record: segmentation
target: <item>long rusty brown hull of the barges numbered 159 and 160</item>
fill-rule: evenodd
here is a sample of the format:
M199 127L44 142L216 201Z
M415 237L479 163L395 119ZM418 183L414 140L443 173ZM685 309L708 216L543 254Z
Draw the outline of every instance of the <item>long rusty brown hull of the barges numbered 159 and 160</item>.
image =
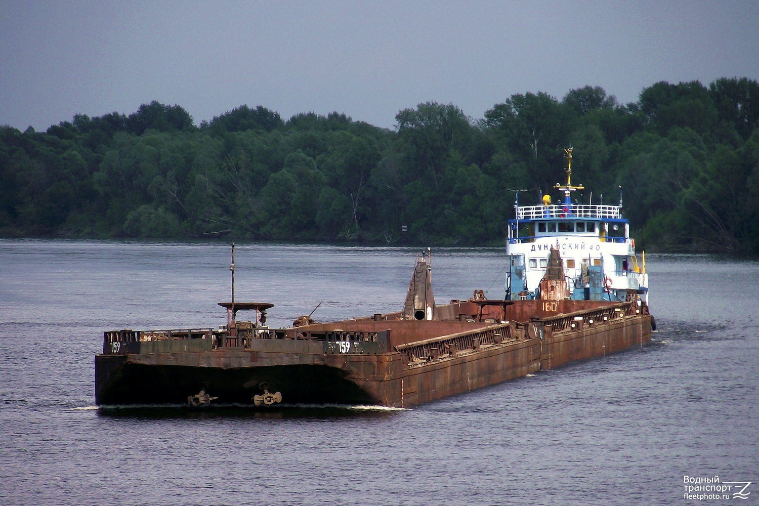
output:
M644 304L464 301L436 321L375 316L304 325L212 347L206 338L104 343L97 404L184 402L199 388L250 404L264 388L285 403L411 407L650 342ZM232 343L238 344L238 343Z

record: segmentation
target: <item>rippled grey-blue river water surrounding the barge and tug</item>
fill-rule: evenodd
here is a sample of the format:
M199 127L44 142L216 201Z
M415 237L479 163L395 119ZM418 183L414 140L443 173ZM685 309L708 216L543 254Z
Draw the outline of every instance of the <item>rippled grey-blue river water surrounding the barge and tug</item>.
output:
M400 310L414 253L240 244L235 296L275 326ZM757 503L759 262L648 255L650 346L413 410L94 407L102 332L225 323L229 254L0 240L0 504ZM502 298L502 248L432 265L441 303ZM691 501L685 475L754 483Z

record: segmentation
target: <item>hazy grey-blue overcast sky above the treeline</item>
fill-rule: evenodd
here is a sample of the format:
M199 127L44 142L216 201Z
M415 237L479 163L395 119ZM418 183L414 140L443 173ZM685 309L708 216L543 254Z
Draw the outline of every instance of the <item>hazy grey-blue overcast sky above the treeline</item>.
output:
M0 0L0 125L46 130L158 100L196 124L240 105L395 126L436 101L483 118L562 97L759 80L759 2Z

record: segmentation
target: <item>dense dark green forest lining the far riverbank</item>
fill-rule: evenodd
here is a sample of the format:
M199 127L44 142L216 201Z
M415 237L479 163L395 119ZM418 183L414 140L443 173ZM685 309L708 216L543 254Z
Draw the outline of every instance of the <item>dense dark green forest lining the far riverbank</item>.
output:
M578 200L621 185L639 245L759 253L756 80L660 82L626 105L591 86L517 94L484 116L427 102L389 130L243 105L196 127L151 102L0 127L0 236L502 244L512 190L559 198L574 146Z

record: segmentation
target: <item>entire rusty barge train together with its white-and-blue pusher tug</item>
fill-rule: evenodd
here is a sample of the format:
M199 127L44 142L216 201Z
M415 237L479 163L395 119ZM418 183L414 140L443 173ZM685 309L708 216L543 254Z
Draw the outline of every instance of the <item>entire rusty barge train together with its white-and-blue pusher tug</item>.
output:
M326 323L300 316L291 327L269 328L271 303L235 302L233 245L232 300L219 303L227 324L104 332L95 357L96 404L411 407L648 344L655 323L647 275L644 263L638 268L622 203L616 210L573 204L571 155L569 149L562 206L515 206L502 300L474 291L468 300L437 305L428 249L417 255L397 313ZM531 231L526 236L520 218ZM620 225L622 234L609 234ZM572 241L587 250L562 258L562 245ZM254 316L238 319L240 311Z

